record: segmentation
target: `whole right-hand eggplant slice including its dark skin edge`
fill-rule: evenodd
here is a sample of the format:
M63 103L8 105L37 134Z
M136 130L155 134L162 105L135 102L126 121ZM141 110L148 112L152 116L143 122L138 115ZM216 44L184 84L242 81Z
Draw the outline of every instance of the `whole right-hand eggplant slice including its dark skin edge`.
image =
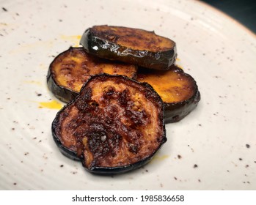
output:
M180 121L200 101L200 92L194 78L175 65L163 72L140 68L137 81L150 83L161 96L166 123Z

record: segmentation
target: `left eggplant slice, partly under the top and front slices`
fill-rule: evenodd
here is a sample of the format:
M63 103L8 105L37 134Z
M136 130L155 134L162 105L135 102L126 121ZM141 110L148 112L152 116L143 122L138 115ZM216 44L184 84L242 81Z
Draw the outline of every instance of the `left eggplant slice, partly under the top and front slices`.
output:
M51 62L47 82L53 94L66 103L73 100L81 86L91 75L108 73L136 78L137 67L122 62L99 59L84 51L83 48L70 47Z

